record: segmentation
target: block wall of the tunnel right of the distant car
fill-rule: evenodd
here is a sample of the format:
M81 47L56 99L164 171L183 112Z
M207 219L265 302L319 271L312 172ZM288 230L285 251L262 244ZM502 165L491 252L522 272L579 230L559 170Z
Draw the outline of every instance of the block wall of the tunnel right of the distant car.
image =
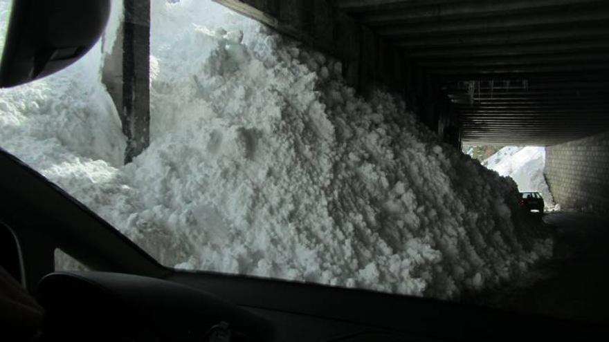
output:
M563 209L609 213L609 131L546 148L545 178Z

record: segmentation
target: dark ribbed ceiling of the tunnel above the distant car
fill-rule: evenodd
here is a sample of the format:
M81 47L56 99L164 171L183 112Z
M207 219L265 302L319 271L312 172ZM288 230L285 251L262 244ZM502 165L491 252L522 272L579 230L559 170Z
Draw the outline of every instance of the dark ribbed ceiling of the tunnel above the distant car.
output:
M609 128L609 1L334 0L437 79L466 144Z

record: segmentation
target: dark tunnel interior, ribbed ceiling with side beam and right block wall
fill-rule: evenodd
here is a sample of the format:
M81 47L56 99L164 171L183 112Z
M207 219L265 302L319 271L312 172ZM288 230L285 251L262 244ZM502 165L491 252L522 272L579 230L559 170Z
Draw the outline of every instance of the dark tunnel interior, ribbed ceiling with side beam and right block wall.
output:
M546 146L565 209L609 211L609 3L215 0L384 86L453 146Z

